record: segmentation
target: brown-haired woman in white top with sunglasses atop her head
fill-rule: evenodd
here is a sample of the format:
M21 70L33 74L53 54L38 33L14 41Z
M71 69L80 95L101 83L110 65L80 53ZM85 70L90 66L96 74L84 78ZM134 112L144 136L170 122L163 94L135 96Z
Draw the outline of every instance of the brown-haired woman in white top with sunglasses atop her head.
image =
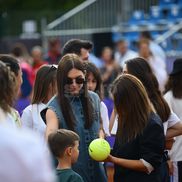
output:
M57 92L56 71L57 65L40 67L35 78L31 105L23 110L21 116L23 127L30 128L40 134L43 142L45 141L46 125L40 112Z

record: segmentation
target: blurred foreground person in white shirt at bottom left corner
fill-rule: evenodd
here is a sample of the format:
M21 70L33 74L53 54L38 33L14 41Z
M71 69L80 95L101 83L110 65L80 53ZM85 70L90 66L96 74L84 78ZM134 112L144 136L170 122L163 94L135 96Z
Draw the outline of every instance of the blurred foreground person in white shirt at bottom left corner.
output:
M1 61L0 90L0 181L54 182L50 157L39 137L18 129L11 117L17 94L16 78Z

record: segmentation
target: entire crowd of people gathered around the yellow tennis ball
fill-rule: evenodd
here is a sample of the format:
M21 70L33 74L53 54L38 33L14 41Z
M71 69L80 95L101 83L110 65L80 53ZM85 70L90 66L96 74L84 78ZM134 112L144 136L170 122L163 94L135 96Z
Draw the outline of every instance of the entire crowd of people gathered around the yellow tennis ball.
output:
M97 62L80 39L0 55L0 179L107 182L109 162L115 182L181 181L182 58L168 75L157 46L143 32L138 52L122 39ZM108 158L93 160L91 141L112 136Z

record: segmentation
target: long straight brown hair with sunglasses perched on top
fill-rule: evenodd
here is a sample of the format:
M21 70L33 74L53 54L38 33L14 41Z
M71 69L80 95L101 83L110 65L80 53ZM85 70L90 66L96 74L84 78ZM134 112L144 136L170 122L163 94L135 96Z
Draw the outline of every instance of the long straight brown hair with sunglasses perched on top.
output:
M47 102L48 92L55 93L57 65L43 65L38 70L35 78L32 104ZM49 89L53 89L52 91Z

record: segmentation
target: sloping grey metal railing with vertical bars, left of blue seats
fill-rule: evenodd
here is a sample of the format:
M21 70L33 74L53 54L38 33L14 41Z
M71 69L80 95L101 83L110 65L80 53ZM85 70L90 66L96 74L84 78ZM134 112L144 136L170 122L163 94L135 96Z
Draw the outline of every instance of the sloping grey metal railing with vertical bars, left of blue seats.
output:
M45 28L44 36L77 36L111 32L113 26L128 21L134 10L145 13L158 0L86 0Z

